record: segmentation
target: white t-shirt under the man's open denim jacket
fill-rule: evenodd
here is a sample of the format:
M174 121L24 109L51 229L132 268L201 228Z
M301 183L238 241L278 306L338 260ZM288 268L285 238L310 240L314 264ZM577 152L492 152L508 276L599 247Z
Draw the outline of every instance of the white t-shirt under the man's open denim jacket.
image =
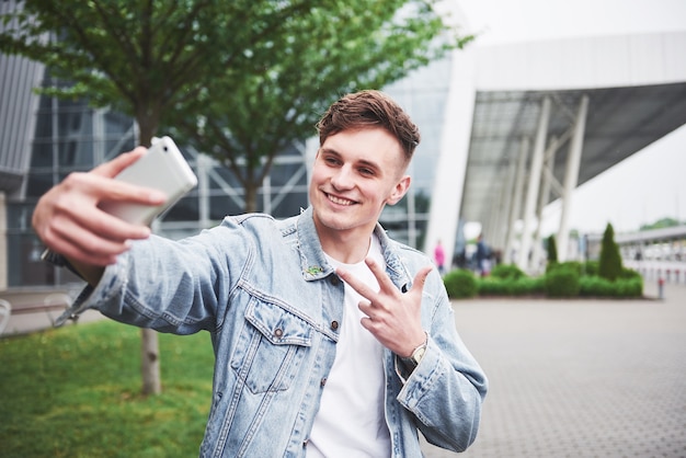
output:
M385 265L381 247L371 237L368 256ZM344 267L374 290L376 277L363 262L343 264L327 255L331 265ZM386 424L384 347L362 327L357 305L366 300L345 284L345 311L336 354L324 386L321 405L307 446L307 458L390 457Z

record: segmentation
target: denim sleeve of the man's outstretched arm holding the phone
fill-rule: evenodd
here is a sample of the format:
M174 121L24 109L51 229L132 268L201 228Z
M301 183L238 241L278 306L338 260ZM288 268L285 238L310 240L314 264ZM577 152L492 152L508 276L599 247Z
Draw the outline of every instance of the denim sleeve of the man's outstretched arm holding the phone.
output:
M152 236L136 241L108 266L80 309L94 308L116 321L160 332L216 332L229 302L229 256L217 249L211 230L172 241ZM243 256L232 252L232 262Z

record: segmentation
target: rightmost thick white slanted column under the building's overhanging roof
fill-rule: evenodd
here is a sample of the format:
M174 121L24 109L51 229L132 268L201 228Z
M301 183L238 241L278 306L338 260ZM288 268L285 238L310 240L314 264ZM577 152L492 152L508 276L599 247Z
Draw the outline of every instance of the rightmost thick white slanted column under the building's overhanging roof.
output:
M586 114L588 112L588 95L581 98L576 119L574 121L574 133L570 140L570 150L567 158L567 169L564 171L564 184L562 186L562 209L560 211L560 228L558 231L558 260L567 261L569 251L569 214L572 204L572 193L579 183L579 168L581 165L581 153L583 151L584 131L586 128Z

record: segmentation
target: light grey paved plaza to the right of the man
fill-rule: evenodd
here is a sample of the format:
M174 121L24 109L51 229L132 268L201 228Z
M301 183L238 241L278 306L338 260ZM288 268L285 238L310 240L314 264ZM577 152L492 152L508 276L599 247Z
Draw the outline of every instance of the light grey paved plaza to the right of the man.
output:
M686 457L686 285L457 301L455 317L491 388L472 447L425 444L426 458Z

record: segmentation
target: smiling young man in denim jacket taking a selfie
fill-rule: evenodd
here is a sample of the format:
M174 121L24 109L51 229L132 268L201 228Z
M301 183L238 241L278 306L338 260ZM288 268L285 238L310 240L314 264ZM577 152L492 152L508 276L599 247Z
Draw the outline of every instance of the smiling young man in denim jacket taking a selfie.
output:
M441 276L378 225L410 186L419 130L363 91L318 124L311 206L228 217L170 241L98 208L163 196L112 180L137 149L71 174L33 224L89 286L75 305L162 332L206 330L216 355L203 457L419 457L475 439L487 379ZM132 241L135 240L135 241Z

